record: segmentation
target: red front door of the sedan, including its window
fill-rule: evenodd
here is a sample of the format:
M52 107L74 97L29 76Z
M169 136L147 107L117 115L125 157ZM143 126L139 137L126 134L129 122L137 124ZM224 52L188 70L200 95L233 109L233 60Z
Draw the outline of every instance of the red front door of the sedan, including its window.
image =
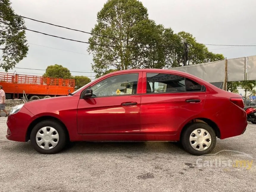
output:
M119 74L92 85L93 97L79 99L78 133L139 134L141 77L142 72Z

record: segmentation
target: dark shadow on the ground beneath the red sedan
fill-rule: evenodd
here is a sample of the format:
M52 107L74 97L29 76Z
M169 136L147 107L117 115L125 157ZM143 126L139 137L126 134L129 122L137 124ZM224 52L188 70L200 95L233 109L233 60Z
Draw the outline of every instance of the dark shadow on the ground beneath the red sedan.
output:
M1 152L20 153L20 154L39 154L34 150L29 142L11 142L1 147ZM232 149L228 143L216 143L215 149L211 153ZM191 155L184 151L180 142L69 142L59 154L173 154L173 155ZM43 155L43 154L41 154Z

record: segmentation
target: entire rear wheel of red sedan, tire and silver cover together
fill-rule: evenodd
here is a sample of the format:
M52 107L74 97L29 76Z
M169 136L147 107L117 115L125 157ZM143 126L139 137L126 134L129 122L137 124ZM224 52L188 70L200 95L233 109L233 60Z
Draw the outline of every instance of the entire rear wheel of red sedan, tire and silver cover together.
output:
M195 122L182 132L181 143L185 151L190 154L208 154L215 147L216 134L209 125Z

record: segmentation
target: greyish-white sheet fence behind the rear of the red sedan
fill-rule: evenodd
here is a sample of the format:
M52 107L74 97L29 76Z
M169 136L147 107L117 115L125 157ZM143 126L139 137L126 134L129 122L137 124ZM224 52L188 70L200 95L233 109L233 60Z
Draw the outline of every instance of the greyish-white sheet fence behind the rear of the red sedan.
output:
M187 65L172 69L192 74L210 83L256 80L256 55L210 63ZM225 79L226 73L227 79Z

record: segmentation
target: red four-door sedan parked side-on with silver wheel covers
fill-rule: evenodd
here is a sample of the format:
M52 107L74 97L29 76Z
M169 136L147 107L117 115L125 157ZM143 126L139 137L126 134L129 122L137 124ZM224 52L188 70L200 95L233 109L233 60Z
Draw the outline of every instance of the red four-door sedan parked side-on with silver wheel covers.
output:
M43 154L68 141L181 141L194 155L246 130L242 97L180 71L117 71L69 96L15 106L7 139Z

